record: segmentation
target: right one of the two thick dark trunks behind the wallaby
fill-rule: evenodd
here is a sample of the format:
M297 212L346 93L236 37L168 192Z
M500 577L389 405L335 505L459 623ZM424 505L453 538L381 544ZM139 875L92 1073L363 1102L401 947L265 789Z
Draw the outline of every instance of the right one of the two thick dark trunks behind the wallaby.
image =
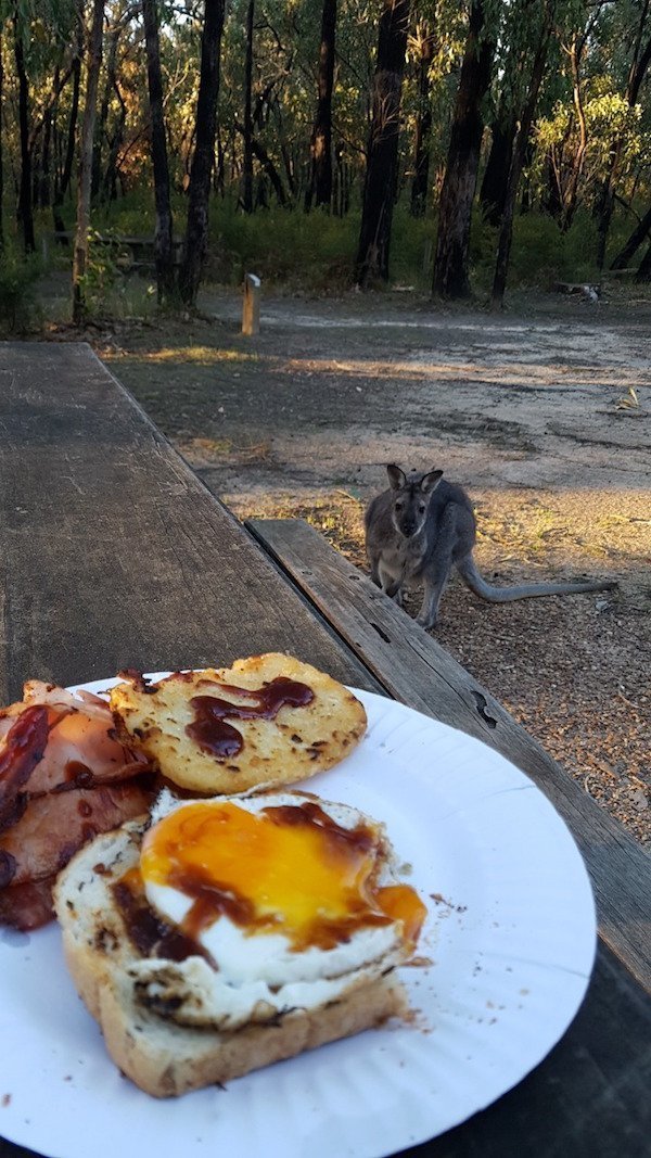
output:
M484 129L482 101L490 85L493 51L493 41L484 34L483 0L473 0L439 201L433 292L445 298L470 293L470 220Z

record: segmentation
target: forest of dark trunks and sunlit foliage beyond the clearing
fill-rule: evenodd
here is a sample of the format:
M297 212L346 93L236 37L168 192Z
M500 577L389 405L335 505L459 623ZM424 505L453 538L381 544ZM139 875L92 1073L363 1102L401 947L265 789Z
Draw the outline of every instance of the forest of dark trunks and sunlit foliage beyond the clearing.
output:
M184 308L251 266L495 306L651 278L650 0L0 0L0 37L6 325L44 257L105 310L133 235Z

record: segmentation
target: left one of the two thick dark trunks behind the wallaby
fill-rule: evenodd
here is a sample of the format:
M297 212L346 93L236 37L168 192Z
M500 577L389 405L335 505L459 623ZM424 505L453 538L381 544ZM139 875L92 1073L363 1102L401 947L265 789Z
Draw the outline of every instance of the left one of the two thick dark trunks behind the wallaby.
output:
M373 78L373 112L356 265L356 278L361 288L373 278L385 281L389 278L408 27L409 0L385 0Z

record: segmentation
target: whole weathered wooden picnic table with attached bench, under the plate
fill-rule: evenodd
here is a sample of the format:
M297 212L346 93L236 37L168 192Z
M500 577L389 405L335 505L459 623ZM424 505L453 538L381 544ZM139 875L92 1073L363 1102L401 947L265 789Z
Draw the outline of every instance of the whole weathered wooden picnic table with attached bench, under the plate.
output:
M85 344L0 344L0 703L20 697L28 677L72 684L126 665L161 670L288 651L480 735L519 764L586 859L600 921L594 973L572 1025L533 1072L404 1153L649 1153L649 858L314 533L242 527ZM29 1153L0 1137L1 1158Z

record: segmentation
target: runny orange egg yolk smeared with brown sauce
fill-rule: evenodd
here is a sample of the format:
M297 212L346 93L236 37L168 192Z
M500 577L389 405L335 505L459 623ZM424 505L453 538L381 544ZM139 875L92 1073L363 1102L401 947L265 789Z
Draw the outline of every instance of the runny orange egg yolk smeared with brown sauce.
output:
M197 802L146 834L140 872L192 901L182 929L195 939L220 916L249 933L283 933L295 951L401 922L412 948L425 906L407 885L378 885L381 858L376 828L344 828L312 800L259 813Z

